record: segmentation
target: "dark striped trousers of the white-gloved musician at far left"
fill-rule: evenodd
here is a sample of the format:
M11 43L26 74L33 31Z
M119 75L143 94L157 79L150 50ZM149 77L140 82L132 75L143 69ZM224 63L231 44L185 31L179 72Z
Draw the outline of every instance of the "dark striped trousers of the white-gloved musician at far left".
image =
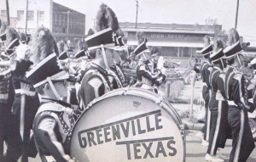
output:
M31 154L30 150L30 134L32 130L32 122L39 107L38 95L33 97L26 96L25 104L25 121L24 121L24 134L22 144L22 161L27 161L27 157ZM13 115L15 116L15 130L20 134L20 94L15 94L15 101L13 103Z

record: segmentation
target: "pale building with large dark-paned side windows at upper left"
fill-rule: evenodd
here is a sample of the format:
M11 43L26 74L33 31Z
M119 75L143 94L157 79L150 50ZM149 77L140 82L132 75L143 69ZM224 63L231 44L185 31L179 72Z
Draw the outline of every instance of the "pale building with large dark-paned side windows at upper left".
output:
M6 1L0 0L1 20L6 21ZM26 0L9 0L10 25L19 32L26 29ZM27 34L30 35L38 26L44 25L53 32L56 41L85 37L85 14L67 8L53 0L29 0L27 9Z

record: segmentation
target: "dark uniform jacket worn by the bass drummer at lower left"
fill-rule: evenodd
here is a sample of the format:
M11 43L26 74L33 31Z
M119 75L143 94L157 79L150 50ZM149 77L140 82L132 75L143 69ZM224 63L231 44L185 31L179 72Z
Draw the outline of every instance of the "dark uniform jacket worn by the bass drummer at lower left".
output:
M62 109L63 106L59 103L44 103L38 109L33 121L38 152L44 156L53 156L55 161L66 162L70 159L68 154L73 120L67 119L62 112L43 110L47 107Z

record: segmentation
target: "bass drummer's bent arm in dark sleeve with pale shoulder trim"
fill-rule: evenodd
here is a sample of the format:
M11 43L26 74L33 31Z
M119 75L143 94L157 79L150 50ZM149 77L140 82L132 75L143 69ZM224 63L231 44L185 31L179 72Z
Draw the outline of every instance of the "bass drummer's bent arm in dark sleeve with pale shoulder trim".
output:
M44 143L44 147L49 150L49 153L60 162L71 162L73 159L68 154L64 153L61 142L58 141L56 134L59 133L57 121L52 117L47 117L41 120L38 125L38 138Z

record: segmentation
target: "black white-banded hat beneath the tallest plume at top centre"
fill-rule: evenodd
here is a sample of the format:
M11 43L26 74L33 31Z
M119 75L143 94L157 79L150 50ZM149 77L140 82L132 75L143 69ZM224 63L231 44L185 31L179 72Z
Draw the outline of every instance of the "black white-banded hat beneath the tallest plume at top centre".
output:
M104 45L104 47L114 46L114 35L111 28L96 32L95 34L85 38L88 49L96 49Z

